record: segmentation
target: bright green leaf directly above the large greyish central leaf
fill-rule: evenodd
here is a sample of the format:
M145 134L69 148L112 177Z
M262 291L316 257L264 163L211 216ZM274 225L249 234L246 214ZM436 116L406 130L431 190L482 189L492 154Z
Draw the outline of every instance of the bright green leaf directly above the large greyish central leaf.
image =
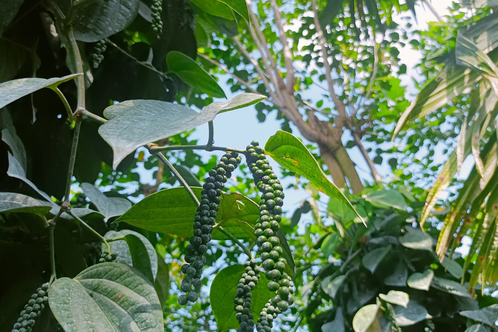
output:
M166 56L168 72L176 74L183 83L216 98L227 98L216 81L189 56L177 52L168 52Z

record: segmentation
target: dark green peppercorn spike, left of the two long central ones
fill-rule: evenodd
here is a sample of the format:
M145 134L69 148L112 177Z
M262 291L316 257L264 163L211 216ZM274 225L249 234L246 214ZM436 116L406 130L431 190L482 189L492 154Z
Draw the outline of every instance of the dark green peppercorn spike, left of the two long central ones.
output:
M180 269L182 273L186 274L180 286L180 290L186 295L178 297L178 304L182 306L188 302L197 301L199 297L199 290L202 286L202 268L206 263L204 254L208 251L211 232L216 223L216 214L221 202L220 195L227 179L232 176L232 172L241 163L241 160L238 153L224 154L220 162L209 171L209 176L203 185L201 204L194 217L194 236L189 239L185 255L186 263Z

